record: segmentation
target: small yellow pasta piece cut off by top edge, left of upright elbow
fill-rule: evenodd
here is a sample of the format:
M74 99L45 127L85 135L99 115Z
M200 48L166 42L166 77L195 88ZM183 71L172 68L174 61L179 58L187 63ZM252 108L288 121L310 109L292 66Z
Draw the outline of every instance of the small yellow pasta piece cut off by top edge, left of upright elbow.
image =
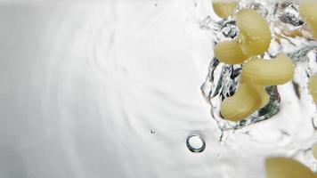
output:
M237 0L214 0L212 4L215 14L223 19L227 19L238 5Z

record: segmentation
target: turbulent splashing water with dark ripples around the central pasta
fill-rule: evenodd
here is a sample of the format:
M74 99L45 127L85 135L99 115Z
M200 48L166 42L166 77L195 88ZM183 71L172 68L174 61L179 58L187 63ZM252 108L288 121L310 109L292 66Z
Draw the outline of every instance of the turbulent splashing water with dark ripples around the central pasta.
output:
M240 1L239 6L239 9L255 9L269 21L272 43L268 52L261 57L273 58L279 53L288 53L294 61L297 71L291 82L291 90L296 93L298 101L313 105L313 102L307 100L307 97L302 97L301 93L308 94L306 81L317 71L315 67L317 43L313 41L305 22L300 18L298 4L295 2ZM239 29L235 23L235 20L231 18L215 20L208 16L200 23L200 28L209 30L215 36L215 44L217 44L238 35ZM214 57L210 62L206 81L201 86L203 96L211 106L212 117L223 132L237 130L270 119L283 108L279 87L267 86L265 89L270 95L270 101L264 108L237 123L224 120L219 111L220 103L236 92L240 73L241 65L224 64Z

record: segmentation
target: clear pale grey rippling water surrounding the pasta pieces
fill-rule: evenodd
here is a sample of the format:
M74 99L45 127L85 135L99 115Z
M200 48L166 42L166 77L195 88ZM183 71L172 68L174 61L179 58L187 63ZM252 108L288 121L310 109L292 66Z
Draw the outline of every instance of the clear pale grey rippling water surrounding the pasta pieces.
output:
M242 3L272 15L272 4ZM315 50L304 47L313 41L272 45L266 57L289 53L297 75L267 88L272 108L236 125L210 105L234 92L240 66L213 60L215 42L237 31L234 21L216 19L209 1L7 1L0 8L0 177L264 178L272 155L317 170L310 151L317 116L306 89ZM288 12L295 14L283 17L292 21L285 25L300 25ZM210 62L216 82L202 95ZM199 154L186 145L193 133L203 140L191 148L207 145Z

